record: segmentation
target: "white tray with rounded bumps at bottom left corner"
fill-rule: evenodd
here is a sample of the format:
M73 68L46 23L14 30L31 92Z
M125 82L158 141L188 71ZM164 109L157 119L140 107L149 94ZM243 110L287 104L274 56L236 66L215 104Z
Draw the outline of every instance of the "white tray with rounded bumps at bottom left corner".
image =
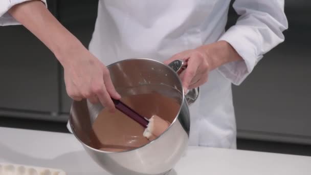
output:
M60 169L0 163L0 175L66 175Z

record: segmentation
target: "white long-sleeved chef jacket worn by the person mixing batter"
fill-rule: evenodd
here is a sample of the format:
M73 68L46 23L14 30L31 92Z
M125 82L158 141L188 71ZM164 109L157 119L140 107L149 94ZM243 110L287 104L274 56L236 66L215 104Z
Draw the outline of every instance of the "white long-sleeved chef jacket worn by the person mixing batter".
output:
M1 0L0 24L18 24L7 10L25 0ZM43 1L44 2L44 1ZM240 15L225 31L230 0L99 0L89 50L104 64L127 58L164 61L218 40L229 42L243 61L213 70L190 106L190 145L236 148L231 84L239 85L263 54L284 40L284 0L236 0Z

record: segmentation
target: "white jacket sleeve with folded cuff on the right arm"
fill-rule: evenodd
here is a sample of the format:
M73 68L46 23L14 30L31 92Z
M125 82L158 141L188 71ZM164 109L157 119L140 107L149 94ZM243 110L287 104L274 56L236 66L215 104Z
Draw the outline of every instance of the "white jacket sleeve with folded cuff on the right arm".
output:
M255 65L279 43L288 28L284 0L236 0L233 8L240 17L219 40L225 40L243 58L222 65L217 70L233 84L239 85Z

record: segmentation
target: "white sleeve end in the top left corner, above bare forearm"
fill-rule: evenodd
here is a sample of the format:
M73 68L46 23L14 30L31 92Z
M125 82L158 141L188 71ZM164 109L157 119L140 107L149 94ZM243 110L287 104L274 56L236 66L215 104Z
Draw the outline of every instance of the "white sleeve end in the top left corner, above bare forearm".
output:
M9 13L8 10L16 4L31 0L0 0L0 26L20 25ZM46 0L41 0L46 7Z

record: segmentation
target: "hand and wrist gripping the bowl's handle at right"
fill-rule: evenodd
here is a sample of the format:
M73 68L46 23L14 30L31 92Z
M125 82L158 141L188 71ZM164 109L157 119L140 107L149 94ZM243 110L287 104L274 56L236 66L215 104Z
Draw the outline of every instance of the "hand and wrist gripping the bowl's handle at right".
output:
M187 69L180 75L184 91L187 92L189 89L197 88L207 82L209 71L227 62L242 58L228 42L217 41L210 45L177 53L164 63L169 64L176 59L185 61L187 65Z

